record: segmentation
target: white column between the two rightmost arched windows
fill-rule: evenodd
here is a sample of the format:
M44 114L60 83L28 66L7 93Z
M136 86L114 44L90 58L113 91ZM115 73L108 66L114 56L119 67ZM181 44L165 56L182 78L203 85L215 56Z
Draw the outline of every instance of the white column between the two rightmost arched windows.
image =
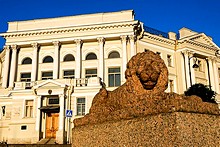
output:
M103 37L97 38L99 43L99 74L98 76L104 81L104 42L105 39Z

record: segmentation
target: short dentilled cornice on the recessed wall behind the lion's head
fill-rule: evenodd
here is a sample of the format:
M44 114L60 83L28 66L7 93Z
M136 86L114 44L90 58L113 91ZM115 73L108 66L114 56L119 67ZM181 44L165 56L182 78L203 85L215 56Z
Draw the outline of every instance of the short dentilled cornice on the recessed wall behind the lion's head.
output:
M148 39L154 40L154 41L158 41L161 43L165 43L168 45L175 45L175 41L174 40L170 40L161 36L157 36L157 35L153 35L147 32L144 32L144 37L147 37Z

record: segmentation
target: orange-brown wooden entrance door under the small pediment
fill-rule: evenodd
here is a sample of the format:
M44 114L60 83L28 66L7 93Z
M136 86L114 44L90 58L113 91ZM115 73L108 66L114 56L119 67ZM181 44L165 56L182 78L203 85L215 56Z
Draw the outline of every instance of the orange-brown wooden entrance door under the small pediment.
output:
M59 129L59 113L47 113L46 138L56 138Z

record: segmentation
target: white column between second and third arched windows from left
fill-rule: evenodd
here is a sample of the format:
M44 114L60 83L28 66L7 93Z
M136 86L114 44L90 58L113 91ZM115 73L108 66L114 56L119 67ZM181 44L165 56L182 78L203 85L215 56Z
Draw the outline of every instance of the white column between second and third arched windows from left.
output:
M53 79L59 79L59 48L60 42L53 42L54 45L54 60L53 60Z

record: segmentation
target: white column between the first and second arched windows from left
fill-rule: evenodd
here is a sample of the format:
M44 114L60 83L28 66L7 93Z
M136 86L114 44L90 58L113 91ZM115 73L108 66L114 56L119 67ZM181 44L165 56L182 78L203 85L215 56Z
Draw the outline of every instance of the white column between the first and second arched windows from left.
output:
M31 44L33 47L33 57L32 57L32 71L31 71L31 81L37 80L37 67L38 67L38 43Z

